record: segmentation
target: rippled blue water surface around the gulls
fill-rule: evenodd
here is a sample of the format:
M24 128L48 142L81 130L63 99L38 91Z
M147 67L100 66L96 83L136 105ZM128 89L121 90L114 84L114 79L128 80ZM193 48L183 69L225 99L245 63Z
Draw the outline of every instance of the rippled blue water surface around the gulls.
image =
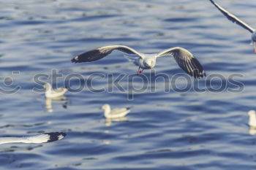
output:
M255 27L256 1L217 2ZM1 169L255 169L255 131L246 125L246 112L255 109L256 100L256 55L249 43L249 32L209 1L0 1L1 136L67 132L49 144L1 144ZM227 82L217 93L207 77L191 79L192 87L198 83L208 88L205 92L165 93L158 80L132 95L127 82L138 68L121 53L94 63L70 62L86 50L116 44L143 53L187 48L208 77L221 74L227 81L241 75L236 80L243 89L231 93L227 89L238 86ZM55 71L62 75L55 87L67 85L72 74L93 82L94 91L86 82L80 92L67 93L67 101L48 101L46 108L43 94L32 90L42 89L33 78L44 75L42 81L50 82ZM170 58L159 59L155 72L183 73ZM110 87L99 75L116 79L120 74L125 74L124 91L97 91ZM69 81L73 91L78 78ZM215 78L211 87L222 87ZM134 88L142 81L135 77ZM179 88L186 83L177 82ZM17 93L2 92L18 85ZM126 121L108 122L99 109L105 103L132 112Z

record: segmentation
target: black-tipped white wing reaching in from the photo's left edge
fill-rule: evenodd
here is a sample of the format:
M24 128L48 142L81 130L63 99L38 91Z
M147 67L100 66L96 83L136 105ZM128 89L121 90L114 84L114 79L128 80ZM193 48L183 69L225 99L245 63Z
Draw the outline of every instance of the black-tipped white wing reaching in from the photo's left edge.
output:
M54 142L63 139L67 134L63 132L50 132L39 134L36 136L23 136L23 137L0 137L0 144L6 143L26 143L26 144L39 144L46 142Z

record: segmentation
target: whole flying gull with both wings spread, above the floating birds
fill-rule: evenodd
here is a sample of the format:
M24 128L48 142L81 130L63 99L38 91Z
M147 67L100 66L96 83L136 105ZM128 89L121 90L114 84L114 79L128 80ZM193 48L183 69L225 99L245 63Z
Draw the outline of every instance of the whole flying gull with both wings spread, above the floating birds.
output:
M113 50L119 50L128 55L138 55L137 58L129 58L129 61L132 61L135 66L139 66L138 74L142 73L144 69L153 69L156 65L157 58L170 55L176 60L178 66L192 77L200 78L206 76L203 66L197 61L197 58L182 47L172 47L157 54L143 54L124 45L110 45L82 53L72 58L71 61L72 63L97 61L109 55Z

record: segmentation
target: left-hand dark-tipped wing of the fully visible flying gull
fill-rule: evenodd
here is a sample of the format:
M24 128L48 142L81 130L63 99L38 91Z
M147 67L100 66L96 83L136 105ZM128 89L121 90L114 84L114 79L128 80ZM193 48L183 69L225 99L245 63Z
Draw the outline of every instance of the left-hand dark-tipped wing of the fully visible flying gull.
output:
M143 58L143 54L138 53L138 51L132 49L131 47L127 47L124 45L110 45L105 47L99 47L94 50L90 50L86 53L82 53L75 58L72 58L72 63L83 63L83 62L91 62L97 61L100 58L104 58L105 56L109 55L113 50L119 50L123 53L127 54L136 54L139 55L140 58Z

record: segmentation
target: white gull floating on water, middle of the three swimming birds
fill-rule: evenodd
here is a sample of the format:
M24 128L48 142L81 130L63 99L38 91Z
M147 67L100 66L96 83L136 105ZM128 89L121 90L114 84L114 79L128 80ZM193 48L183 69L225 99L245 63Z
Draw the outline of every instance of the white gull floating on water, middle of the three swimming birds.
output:
M116 109L111 110L109 104L104 104L101 109L104 110L104 116L107 119L116 119L116 118L124 117L131 111L128 107L127 108L116 108Z

